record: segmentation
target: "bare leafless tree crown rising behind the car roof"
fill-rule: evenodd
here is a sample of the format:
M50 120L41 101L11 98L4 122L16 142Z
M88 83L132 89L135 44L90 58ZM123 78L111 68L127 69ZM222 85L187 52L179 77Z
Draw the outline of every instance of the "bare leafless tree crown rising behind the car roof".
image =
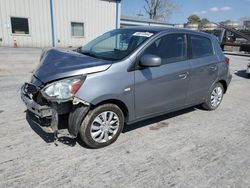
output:
M144 0L144 9L150 19L167 20L176 8L171 0Z

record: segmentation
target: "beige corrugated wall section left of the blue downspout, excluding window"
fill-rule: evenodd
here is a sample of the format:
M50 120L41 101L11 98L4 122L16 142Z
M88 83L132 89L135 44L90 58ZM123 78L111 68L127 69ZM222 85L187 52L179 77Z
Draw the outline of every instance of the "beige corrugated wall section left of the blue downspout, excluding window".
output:
M50 46L49 0L0 0L0 46ZM28 18L29 34L12 34L11 17Z

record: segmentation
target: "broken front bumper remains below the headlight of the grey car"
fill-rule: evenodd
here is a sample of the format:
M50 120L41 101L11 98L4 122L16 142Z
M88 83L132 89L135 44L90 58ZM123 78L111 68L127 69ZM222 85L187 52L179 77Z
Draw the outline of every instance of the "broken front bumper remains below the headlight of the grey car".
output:
M64 122L64 124L67 124L70 137L76 137L82 120L89 111L89 103L78 98L72 98L63 103L48 101L47 105L41 105L34 100L34 93L25 91L24 88L26 85L27 83L21 88L21 99L26 105L27 110L35 115L36 120L33 121L39 124L44 132L57 133L60 127L60 116L68 115L68 122Z

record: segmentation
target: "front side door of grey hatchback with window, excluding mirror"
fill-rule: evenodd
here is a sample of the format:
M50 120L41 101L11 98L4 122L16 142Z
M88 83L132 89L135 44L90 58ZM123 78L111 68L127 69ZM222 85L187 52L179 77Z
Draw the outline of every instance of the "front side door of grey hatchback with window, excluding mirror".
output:
M183 106L189 82L185 34L168 34L157 39L138 59L146 54L161 57L162 65L135 71L137 118Z

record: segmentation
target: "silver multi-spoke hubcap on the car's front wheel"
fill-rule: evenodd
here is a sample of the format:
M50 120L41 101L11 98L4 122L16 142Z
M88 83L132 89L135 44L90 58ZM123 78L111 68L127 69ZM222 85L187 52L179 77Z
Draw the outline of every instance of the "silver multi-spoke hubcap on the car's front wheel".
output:
M96 116L91 124L90 133L94 141L99 143L112 139L119 128L119 118L116 113L105 111Z

